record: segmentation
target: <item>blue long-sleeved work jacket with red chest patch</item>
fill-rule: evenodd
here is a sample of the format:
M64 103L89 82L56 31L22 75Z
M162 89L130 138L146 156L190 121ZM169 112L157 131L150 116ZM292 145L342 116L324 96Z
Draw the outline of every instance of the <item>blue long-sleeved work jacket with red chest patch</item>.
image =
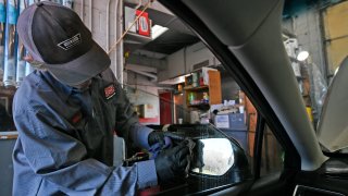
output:
M157 185L153 160L112 166L115 131L149 148L151 130L138 123L110 69L85 91L35 71L14 96L13 117L13 195L135 195Z

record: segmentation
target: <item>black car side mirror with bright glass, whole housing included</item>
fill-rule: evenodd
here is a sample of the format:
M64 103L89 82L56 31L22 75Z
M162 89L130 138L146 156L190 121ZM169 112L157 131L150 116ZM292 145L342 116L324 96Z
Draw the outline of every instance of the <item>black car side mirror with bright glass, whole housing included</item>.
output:
M169 133L196 143L188 181L200 186L225 185L251 177L250 164L239 143L212 124L175 124ZM199 183L198 183L199 182ZM207 183L201 183L207 182Z

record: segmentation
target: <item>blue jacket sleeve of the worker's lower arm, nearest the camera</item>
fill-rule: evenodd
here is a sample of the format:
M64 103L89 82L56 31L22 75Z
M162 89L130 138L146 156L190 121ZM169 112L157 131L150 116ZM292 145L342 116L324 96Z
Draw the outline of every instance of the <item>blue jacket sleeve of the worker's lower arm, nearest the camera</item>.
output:
M14 118L32 170L67 195L134 195L137 188L157 184L153 161L108 167L88 158L84 144L49 113L24 110Z

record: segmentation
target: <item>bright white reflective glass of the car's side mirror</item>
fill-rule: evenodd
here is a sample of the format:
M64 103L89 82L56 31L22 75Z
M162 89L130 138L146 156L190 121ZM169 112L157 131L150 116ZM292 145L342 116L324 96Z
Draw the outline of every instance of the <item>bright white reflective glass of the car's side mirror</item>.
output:
M208 175L223 175L234 164L234 152L226 138L199 139L201 143L202 167L191 171Z

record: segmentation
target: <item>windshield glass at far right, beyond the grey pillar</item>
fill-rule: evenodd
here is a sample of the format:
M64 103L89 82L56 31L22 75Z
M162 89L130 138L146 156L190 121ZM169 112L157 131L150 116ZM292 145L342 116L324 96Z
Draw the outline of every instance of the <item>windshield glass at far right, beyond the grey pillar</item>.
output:
M348 28L341 25L347 8L347 1L286 2L283 13L284 46L322 149L330 152L347 152L341 149L348 146L346 90L333 90L334 81L336 88L347 84L335 79L348 54Z

